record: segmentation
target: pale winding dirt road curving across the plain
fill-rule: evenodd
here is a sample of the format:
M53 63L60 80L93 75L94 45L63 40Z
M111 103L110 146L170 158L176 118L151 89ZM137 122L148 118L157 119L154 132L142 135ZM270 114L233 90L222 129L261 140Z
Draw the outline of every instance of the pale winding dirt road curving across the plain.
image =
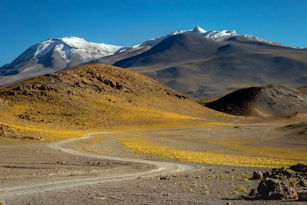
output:
M144 131L144 130L129 130L129 131ZM125 174L115 176L115 177L97 177L97 178L78 178L72 180L61 180L61 181L49 181L49 182L42 182L42 183L35 183L30 184L27 186L19 186L19 187L12 187L12 188L0 188L1 198L3 199L10 199L22 195L32 195L40 192L46 191L55 191L55 190L62 190L68 189L73 187L85 186L85 185L92 185L95 183L103 183L109 181L120 181L120 180L128 180L134 179L137 177L146 177L146 176L157 176L157 175L166 175L174 172L184 172L184 171L191 171L197 169L196 165L184 165L182 163L176 162L164 162L164 161L150 161L150 160L139 160L139 159L130 159L130 158L120 158L120 157L111 157L111 156L104 156L100 154L94 153L86 153L80 152L77 150L73 150L68 148L67 144L75 142L80 139L90 138L93 134L103 134L108 132L98 132L98 133L89 133L85 134L83 137L80 138L71 138L62 141L55 141L52 142L48 147L53 149L60 149L61 151L76 154L79 156L87 156L87 157L95 157L99 159L109 159L109 160L118 160L118 161L125 161L125 162L135 162L135 163L145 163L147 165L153 165L156 169L149 170L149 171L142 171L134 174Z

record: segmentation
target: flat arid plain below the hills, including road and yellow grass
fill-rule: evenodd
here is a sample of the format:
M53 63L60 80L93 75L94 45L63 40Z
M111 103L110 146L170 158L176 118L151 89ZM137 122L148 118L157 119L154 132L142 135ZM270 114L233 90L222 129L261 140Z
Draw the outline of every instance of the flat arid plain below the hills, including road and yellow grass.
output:
M300 125L302 119L230 121L227 126L109 131L55 142L2 142L0 200L303 204L242 199L259 183L251 179L253 171L306 163L306 141L297 143L299 135L288 126ZM164 176L170 179L160 179Z

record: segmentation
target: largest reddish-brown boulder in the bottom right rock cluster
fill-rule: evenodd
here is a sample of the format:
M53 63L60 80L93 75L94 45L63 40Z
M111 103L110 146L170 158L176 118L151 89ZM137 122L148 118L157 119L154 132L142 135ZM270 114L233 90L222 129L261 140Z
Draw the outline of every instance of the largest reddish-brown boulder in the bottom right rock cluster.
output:
M260 181L257 190L252 190L248 198L262 200L293 199L295 191L277 179L264 178Z

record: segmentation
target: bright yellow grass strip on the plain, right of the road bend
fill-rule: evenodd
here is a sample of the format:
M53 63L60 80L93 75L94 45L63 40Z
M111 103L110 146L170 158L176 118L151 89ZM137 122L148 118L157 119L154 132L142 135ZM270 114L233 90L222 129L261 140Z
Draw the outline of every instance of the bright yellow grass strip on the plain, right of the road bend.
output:
M217 165L248 166L248 167L282 167L291 166L303 161L274 159L252 156L235 156L212 152L181 150L159 145L144 137L119 137L117 138L123 147L131 152L146 153L151 157L159 157L165 160L185 162L210 163Z

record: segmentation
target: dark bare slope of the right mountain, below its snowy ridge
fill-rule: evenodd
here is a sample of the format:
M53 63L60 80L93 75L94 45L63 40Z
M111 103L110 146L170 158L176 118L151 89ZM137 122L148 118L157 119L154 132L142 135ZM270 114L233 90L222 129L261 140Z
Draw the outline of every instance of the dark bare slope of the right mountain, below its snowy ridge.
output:
M150 50L117 61L193 99L223 96L249 86L305 86L307 49L249 41L240 36L215 41L182 33Z

